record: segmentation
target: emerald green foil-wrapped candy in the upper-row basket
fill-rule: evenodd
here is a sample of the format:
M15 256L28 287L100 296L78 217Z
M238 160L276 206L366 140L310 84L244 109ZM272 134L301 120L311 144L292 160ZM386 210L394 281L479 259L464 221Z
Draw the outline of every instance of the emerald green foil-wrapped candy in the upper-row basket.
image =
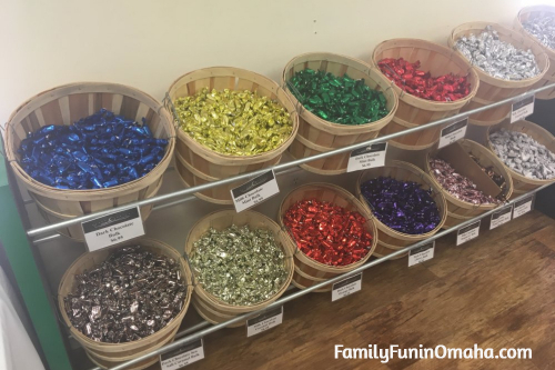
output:
M304 108L330 122L364 124L389 113L382 91L369 88L364 79L353 80L347 74L336 77L305 69L287 81L287 88Z

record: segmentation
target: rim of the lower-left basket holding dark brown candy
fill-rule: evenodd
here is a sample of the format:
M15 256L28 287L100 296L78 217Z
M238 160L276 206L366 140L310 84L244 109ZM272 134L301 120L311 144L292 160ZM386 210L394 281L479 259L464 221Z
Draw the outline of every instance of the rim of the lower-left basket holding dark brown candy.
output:
M148 246L141 246L141 242L147 242L149 244ZM130 342L124 342L124 343L98 342L98 341L94 341L94 340L90 339L89 337L87 337L85 334L83 334L82 332L80 332L79 330L77 330L73 327L73 324L71 323L71 321L69 320L68 314L65 313L64 302L63 302L64 297L62 297L62 294L60 293L60 290L62 289L62 287L64 286L64 283L67 282L67 280L68 280L68 278L70 276L70 270L74 266L77 266L79 262L81 262L83 259L85 259L87 257L90 257L91 253L104 252L104 251L109 251L109 250L113 251L113 250L117 250L119 248L127 247L127 246L152 247L152 244L154 244L155 247L159 247L159 248L161 248L163 250L173 252L176 256L179 256L179 258L176 259L176 262L180 263L181 267L183 268L183 270L185 271L183 278L185 279L185 283L186 283L186 297L184 299L184 304L181 308L181 311L175 316L175 318L173 318L173 320L171 320L165 327L161 328L159 331L157 331L157 332L154 332L154 333L152 333L150 336L147 336L144 338L141 338L139 340L134 340L134 341L130 341ZM115 348L115 347L123 347L123 348L121 348L122 351L132 350L132 349L128 349L125 347L140 347L139 344L145 344L149 340L152 340L154 337L158 339L159 337L162 337L161 333L162 333L163 329L169 328L170 324L172 324L172 323L174 323L176 321L181 322L181 320L183 320L183 318L184 318L184 316L185 316L185 313L186 313L186 311L189 309L189 304L191 302L191 298L192 298L192 294L193 294L193 287L192 287L192 279L191 279L191 277L192 277L192 271L189 269L189 264L185 262L185 260L183 259L183 257L179 253L179 251L176 249L170 247L169 244L167 244L167 243L164 243L164 242L162 242L160 240L157 240L157 239L153 239L153 238L148 238L148 237L140 237L140 238L137 238L137 239L132 239L130 241L125 241L125 242L120 243L120 244L111 246L111 247L108 247L108 248L102 248L102 249L99 249L99 250L95 250L95 251L92 251L92 252L84 252L81 256L79 256L73 261L73 263L71 263L70 267L65 270L65 272L63 273L62 278L60 279L60 283L58 284L58 309L60 310L60 313L62 316L63 323L69 328L69 330L71 331L71 333L74 334L75 339L78 339L81 343L94 344L94 347L101 346L101 347L112 348L112 349Z

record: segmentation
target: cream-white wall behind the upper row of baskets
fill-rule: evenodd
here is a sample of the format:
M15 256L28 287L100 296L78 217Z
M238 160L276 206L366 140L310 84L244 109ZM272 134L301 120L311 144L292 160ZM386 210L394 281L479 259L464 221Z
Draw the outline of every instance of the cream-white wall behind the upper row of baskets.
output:
M29 97L73 81L110 81L162 99L181 74L211 66L280 79L294 56L367 60L391 38L445 43L463 22L511 26L555 0L0 0L0 122Z

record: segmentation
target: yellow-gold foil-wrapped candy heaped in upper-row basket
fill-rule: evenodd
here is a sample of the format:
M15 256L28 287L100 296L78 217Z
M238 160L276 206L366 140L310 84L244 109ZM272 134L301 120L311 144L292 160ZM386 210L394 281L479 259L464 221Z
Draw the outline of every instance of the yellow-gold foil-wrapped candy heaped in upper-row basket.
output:
M202 89L174 102L181 129L196 142L229 156L254 156L280 147L293 122L287 111L251 91Z

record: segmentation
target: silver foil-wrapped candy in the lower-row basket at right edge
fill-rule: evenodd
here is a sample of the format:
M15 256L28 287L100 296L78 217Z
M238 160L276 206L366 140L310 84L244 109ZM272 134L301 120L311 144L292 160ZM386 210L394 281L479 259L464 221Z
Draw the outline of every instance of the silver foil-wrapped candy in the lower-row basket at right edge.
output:
M555 178L555 154L527 134L502 129L491 133L490 141L513 171L536 180Z

